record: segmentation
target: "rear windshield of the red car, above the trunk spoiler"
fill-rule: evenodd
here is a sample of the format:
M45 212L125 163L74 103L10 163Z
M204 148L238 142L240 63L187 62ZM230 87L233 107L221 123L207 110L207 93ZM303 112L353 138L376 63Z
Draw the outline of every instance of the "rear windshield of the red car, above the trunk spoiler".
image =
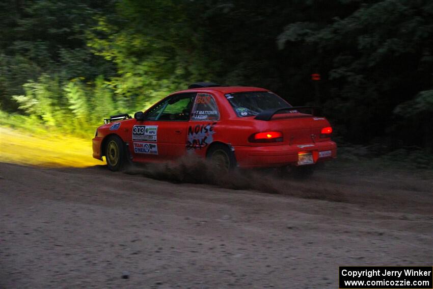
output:
M238 117L255 116L268 109L291 107L270 91L227 93L225 96Z

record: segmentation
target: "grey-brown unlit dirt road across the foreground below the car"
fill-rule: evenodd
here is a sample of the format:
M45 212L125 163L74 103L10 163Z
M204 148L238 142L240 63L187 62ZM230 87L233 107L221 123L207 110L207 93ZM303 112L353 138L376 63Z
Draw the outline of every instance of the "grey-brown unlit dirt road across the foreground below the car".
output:
M409 173L259 192L1 163L0 185L5 288L338 288L338 266L433 263L433 183Z

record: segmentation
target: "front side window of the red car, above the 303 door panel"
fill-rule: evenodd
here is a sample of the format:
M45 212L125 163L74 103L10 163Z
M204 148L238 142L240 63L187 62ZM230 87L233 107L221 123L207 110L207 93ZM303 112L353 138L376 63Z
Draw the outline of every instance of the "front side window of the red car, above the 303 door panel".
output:
M187 121L190 119L194 96L191 93L173 95L149 111L145 119Z

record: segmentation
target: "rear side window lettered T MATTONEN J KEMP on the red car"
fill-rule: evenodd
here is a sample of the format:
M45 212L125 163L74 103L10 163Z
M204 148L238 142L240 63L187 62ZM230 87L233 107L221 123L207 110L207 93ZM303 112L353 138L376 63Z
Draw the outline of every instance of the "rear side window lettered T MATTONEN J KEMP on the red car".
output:
M207 93L197 94L194 101L191 120L215 121L220 120L217 102Z

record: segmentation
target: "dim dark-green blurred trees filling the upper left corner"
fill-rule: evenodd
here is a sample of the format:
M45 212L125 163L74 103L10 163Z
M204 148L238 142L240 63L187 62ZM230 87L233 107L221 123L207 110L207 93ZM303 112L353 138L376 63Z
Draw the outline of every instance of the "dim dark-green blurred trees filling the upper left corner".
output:
M0 106L3 110L16 111L18 106L11 96L24 94L23 85L36 82L44 74L63 83L76 77L94 80L99 74L115 73L113 64L92 54L86 46L86 31L96 24L94 17L100 13L91 3L96 2L6 0L0 3ZM107 11L111 4L105 4Z

